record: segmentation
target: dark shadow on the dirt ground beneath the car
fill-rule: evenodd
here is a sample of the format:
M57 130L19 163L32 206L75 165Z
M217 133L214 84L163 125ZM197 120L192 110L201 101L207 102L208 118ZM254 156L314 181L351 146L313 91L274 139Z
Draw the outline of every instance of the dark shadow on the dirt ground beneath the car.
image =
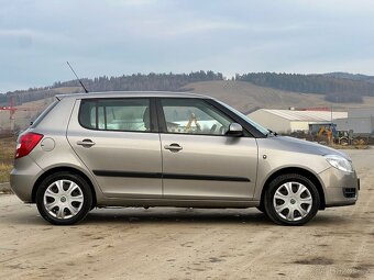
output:
M46 225L48 224L37 213L36 208L26 205L30 212L10 213L0 215L0 225ZM305 226L326 227L345 226L352 223L352 219L339 215L337 212L320 211ZM95 209L81 221L81 225L94 224L249 224L249 225L275 225L264 213L252 209L189 209L189 208L110 208Z

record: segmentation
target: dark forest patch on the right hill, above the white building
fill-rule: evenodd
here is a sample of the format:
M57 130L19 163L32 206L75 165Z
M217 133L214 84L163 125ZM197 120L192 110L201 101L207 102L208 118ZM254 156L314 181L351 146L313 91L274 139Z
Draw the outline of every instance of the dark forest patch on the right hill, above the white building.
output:
M285 91L326 94L331 102L362 102L364 96L374 97L374 83L364 75L250 72L237 75L235 79Z

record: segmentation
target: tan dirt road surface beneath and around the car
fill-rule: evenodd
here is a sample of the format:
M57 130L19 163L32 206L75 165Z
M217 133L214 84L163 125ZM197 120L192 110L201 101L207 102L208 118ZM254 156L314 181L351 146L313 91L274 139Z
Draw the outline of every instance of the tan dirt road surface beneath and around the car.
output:
M52 226L0 195L0 279L374 279L374 149L349 150L356 205L301 227L255 209L95 210Z

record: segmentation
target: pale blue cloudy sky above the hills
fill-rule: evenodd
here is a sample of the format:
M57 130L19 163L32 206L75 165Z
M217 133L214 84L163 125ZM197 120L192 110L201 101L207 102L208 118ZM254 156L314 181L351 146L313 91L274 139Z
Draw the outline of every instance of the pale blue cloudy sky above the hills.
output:
M0 92L133 72L374 75L370 0L0 0Z

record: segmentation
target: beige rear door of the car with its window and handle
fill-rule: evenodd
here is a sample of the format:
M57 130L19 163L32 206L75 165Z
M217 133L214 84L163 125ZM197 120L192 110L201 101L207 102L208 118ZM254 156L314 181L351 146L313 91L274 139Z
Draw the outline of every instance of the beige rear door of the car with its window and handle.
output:
M154 110L148 98L77 101L67 138L107 197L162 197Z

